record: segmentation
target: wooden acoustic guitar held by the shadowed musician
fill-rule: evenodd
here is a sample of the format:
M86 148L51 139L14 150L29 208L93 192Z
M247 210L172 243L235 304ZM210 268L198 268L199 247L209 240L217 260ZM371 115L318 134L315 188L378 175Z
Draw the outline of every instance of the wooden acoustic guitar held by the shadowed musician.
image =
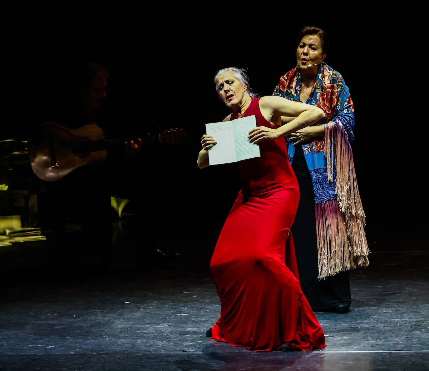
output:
M126 142L138 140L106 140L103 130L95 124L68 129L48 122L42 127L41 136L28 141L28 156L34 174L44 181L57 181L80 166L103 163L107 151L125 149ZM142 145L178 144L183 142L186 136L183 129L175 129L139 138Z

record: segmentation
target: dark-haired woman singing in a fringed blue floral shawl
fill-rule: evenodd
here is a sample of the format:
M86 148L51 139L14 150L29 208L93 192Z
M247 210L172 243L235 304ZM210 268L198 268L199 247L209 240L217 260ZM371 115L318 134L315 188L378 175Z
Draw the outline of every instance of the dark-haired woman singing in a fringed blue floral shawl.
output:
M291 229L299 281L313 311L347 313L349 271L369 264L365 213L350 147L353 102L341 74L323 62L327 33L303 27L296 41L297 66L281 76L273 95L320 107L326 115L286 138L300 190ZM284 124L293 118L280 119Z

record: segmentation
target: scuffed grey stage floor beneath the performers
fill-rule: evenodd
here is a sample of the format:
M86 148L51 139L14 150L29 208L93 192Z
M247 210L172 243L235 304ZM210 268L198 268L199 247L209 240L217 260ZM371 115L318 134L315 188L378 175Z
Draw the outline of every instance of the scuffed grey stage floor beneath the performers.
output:
M428 369L428 251L372 251L351 274L350 313L316 313L326 348L284 353L205 337L220 313L209 254L137 265L121 247L105 270L54 269L40 251L26 268L13 266L19 254L2 260L0 370Z

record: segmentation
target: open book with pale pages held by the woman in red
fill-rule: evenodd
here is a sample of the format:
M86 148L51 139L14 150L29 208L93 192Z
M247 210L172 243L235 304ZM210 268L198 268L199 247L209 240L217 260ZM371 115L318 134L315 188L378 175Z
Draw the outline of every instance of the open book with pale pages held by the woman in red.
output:
M261 157L259 145L249 142L248 139L249 131L255 127L256 115L205 124L207 135L211 135L218 142L208 151L209 164L218 165Z

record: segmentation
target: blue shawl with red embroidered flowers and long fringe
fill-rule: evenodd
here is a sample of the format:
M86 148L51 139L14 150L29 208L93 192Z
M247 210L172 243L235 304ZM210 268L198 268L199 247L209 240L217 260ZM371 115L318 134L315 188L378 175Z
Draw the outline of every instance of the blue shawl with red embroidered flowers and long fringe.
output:
M299 101L299 67L280 78L273 95ZM365 213L360 200L350 142L353 141L354 108L341 74L321 63L316 83L305 102L325 112L315 125L325 126L324 140L302 145L315 195L319 278L369 264L364 231ZM333 129L329 130L329 121ZM289 162L295 154L287 137Z

